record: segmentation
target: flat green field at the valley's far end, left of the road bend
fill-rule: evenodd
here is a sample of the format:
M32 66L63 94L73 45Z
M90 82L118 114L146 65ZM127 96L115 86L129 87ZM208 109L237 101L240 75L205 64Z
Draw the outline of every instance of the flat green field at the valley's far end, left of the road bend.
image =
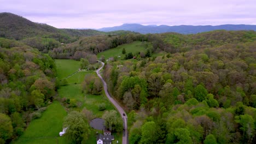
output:
M79 69L79 61L71 59L55 59L57 77L61 80Z

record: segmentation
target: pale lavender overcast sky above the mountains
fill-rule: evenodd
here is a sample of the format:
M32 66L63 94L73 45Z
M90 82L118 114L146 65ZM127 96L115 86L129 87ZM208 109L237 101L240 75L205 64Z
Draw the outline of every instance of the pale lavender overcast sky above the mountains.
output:
M57 28L256 25L255 0L0 0L0 12Z

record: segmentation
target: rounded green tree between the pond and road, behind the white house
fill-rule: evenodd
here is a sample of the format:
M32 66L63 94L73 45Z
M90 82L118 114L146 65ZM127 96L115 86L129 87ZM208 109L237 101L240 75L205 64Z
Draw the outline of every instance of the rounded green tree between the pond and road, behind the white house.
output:
M117 115L117 111L106 111L102 118L105 121L105 126L110 131L120 132L123 130L123 121L120 116Z

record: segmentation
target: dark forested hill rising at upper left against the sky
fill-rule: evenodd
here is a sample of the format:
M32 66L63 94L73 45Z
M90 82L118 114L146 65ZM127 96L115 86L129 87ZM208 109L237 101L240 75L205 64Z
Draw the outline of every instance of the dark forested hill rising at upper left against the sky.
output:
M43 53L48 53L49 50L60 47L61 44L72 43L80 37L127 33L131 32L115 31L105 33L92 29L58 29L43 23L32 22L15 14L0 13L0 37L19 40L21 43L36 48ZM3 43L3 40L1 43Z

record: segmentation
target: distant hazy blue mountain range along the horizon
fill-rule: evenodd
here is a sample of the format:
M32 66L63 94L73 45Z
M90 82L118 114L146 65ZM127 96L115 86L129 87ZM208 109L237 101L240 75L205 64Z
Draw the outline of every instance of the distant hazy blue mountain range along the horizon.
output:
M125 23L121 26L115 27L104 27L97 29L98 31L103 32L110 32L110 31L132 31L138 32L142 34L147 33L166 33L166 32L176 32L181 34L195 34L201 32L208 32L214 31L219 29L225 29L227 31L240 31L240 30L253 30L256 31L256 25L219 25L219 26L188 26L188 25L181 25L181 26L167 26L167 25L148 25L143 26L136 23Z

